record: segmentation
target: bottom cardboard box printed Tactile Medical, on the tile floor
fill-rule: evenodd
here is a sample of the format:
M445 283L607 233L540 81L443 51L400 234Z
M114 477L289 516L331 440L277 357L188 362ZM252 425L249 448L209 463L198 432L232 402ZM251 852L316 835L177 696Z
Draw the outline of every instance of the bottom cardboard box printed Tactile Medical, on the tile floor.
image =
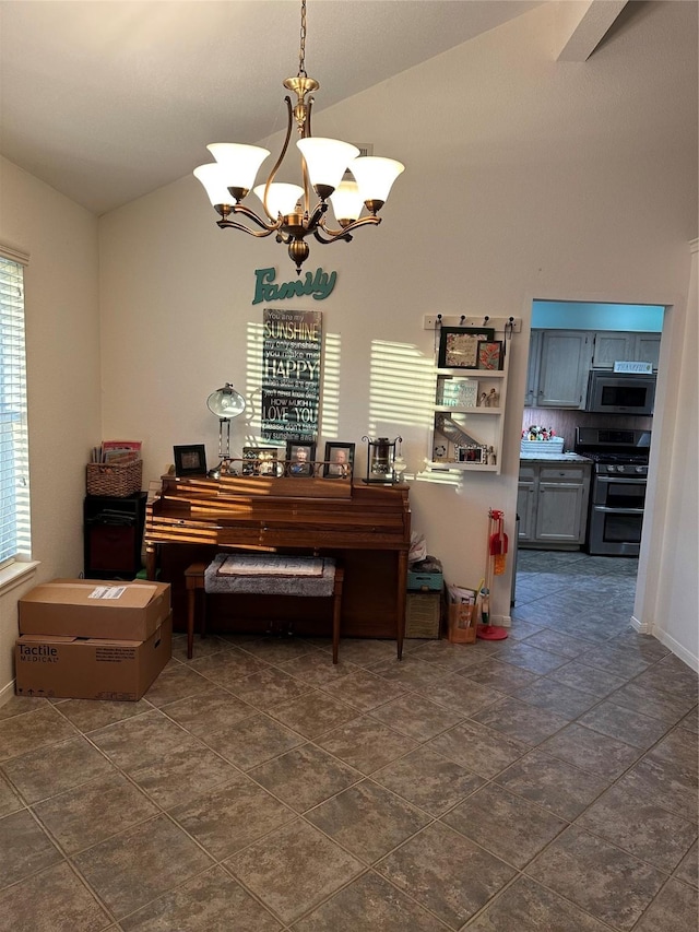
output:
M22 635L15 641L17 696L137 701L171 656L173 616L147 640Z

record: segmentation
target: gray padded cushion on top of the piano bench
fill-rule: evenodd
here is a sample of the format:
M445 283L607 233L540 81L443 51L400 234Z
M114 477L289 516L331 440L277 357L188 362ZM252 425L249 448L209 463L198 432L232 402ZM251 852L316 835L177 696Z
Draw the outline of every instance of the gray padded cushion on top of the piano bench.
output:
M335 562L329 557L220 553L204 570L204 590L329 599Z

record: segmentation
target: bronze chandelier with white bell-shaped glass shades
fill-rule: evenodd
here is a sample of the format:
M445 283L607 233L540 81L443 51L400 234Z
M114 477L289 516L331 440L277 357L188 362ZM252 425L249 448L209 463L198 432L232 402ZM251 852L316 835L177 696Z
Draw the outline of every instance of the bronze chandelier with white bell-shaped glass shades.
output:
M211 143L206 149L216 161L194 168L194 176L221 215L216 221L218 226L222 229L240 229L254 237L275 233L276 241L288 247L296 274L300 274L301 264L308 258L310 249L306 240L311 234L323 245L341 239L350 243L353 231L381 223L377 214L386 203L393 181L405 167L393 158L360 155L357 146L348 142L311 135L313 98L306 98L318 91L320 84L307 75L305 58L306 0L301 0L298 74L284 81L284 87L296 94L296 103L292 105L291 97L284 98L288 110L286 139L264 184L254 186L260 166L270 151L258 145ZM300 137L296 145L300 151L303 187L274 180L286 155L294 123ZM345 177L347 173L351 173L351 178ZM311 188L318 198L312 209ZM250 190L262 202L264 216L241 203ZM335 228L328 217L329 201L337 224ZM364 210L366 213L362 215ZM248 221L251 226L232 220L233 216Z

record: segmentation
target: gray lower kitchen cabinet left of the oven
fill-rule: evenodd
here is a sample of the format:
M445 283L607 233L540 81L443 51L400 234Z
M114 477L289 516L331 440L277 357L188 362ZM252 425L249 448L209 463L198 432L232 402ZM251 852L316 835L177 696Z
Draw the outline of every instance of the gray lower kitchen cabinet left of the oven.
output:
M578 548L588 530L591 463L522 462L519 544Z

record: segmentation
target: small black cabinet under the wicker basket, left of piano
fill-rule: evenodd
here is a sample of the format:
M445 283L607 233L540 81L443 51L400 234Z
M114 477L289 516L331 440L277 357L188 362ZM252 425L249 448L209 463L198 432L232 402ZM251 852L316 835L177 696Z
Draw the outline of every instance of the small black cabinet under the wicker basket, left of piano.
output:
M83 503L86 579L133 579L141 569L145 492L123 498L88 495Z

